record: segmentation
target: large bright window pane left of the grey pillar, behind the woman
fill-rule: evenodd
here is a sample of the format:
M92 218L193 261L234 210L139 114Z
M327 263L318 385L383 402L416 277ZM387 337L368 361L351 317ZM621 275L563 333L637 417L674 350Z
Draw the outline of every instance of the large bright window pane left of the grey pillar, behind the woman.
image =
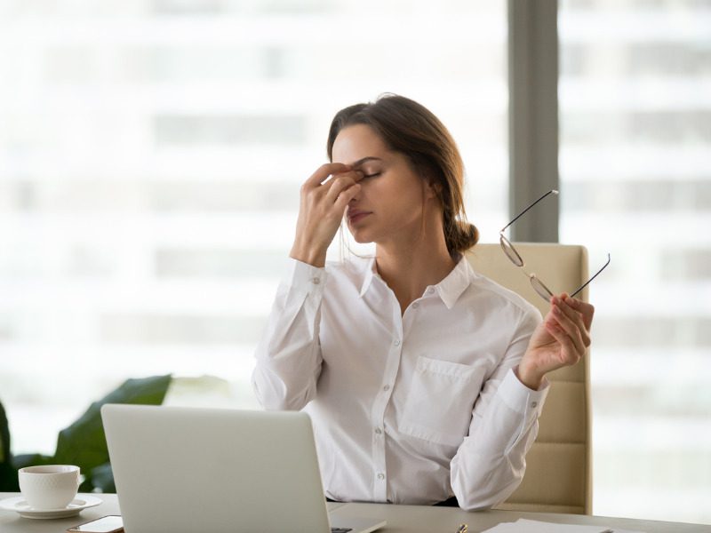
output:
M506 4L6 0L0 400L14 453L124 378L249 376L332 115L393 91L458 140L469 217L507 220ZM221 388L220 388L221 387ZM212 394L212 393L211 393ZM188 398L189 395L189 398Z

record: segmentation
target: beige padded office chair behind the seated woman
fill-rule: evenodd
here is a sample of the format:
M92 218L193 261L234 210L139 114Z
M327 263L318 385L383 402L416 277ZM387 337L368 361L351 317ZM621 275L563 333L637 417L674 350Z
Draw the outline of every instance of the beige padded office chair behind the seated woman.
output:
M587 250L582 246L515 243L525 267L515 267L499 244L477 244L467 258L490 277L537 306L548 305L523 270L535 273L555 293L576 290L587 281ZM587 301L587 288L578 295ZM592 507L589 351L573 367L548 375L551 389L539 418L539 435L526 456L521 486L501 509L590 514Z

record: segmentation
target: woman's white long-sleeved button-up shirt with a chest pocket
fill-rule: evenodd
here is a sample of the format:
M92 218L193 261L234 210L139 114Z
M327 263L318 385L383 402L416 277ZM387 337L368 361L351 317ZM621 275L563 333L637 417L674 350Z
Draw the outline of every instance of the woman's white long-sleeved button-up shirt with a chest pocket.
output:
M257 348L269 410L306 410L326 496L499 504L518 486L547 394L515 376L541 321L467 259L401 314L374 259L291 260Z

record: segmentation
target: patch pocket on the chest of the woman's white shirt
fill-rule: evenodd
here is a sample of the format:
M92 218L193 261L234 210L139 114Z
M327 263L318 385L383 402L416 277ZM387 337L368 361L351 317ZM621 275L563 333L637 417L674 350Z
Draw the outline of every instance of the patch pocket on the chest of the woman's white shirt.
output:
M418 357L399 429L426 441L459 446L482 389L485 365Z

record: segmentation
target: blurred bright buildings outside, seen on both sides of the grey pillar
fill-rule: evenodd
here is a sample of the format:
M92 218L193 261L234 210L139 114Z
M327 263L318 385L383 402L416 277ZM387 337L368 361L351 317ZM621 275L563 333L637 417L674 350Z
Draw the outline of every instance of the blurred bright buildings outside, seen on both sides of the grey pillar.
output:
M591 289L594 513L711 523L711 2L562 0L559 35L561 242L591 270L612 256ZM52 453L124 378L257 408L300 184L332 115L382 92L450 128L495 242L506 2L0 0L13 452Z

